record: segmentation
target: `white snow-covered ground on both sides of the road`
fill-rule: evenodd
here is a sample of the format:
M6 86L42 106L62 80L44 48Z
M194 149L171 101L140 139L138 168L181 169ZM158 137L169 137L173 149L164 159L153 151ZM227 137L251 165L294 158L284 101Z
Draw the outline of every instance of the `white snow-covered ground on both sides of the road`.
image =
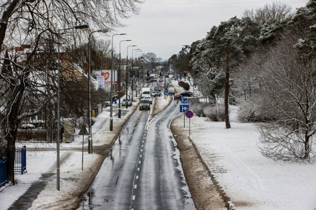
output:
M181 90L173 82L176 91ZM157 97L160 108L166 106L171 99ZM114 109L117 109L117 105ZM232 198L240 210L315 210L316 209L316 164L288 163L267 159L258 151L258 133L252 123L236 121L237 107L231 108L232 128L226 129L224 122L211 122L206 118L194 116L190 120L191 139L195 143L203 161L216 176L225 192ZM123 109L123 108L122 108ZM121 119L114 118L114 125L121 126L127 117L136 109L136 103ZM163 108L162 108L163 109ZM180 114L180 113L179 113ZM183 115L183 114L181 114ZM93 144L108 144L115 136L109 131L109 108L104 109L92 126ZM174 120L183 127L183 118ZM189 119L185 119L188 128ZM114 126L115 127L115 126ZM87 141L84 140L84 147ZM31 148L28 144L27 148ZM33 144L34 147L34 144ZM54 148L55 145L37 145L37 147ZM56 180L45 187L33 203L31 209L51 209L49 204L66 198L70 192L81 187L82 180L90 174L90 170L100 161L97 154L84 153L83 171L81 171L81 155L79 151L68 148L82 147L82 136L77 136L71 144L63 144L61 151L60 191L56 190ZM15 186L2 187L0 190L0 210L5 210L19 198L42 173L56 173L55 151L27 151L27 173L16 174L19 180ZM46 204L46 206L43 206ZM47 206L48 205L48 206Z

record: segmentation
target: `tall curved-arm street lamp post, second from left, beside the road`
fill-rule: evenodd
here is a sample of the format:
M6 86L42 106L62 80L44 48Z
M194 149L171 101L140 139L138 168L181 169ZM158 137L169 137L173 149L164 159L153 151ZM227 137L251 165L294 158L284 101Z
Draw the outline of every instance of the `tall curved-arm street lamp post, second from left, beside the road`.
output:
M91 53L90 53L90 36L94 32L103 32L106 33L109 30L94 30L89 33L88 36L88 92L89 92L89 138L88 138L88 153L92 154L92 130L91 130Z

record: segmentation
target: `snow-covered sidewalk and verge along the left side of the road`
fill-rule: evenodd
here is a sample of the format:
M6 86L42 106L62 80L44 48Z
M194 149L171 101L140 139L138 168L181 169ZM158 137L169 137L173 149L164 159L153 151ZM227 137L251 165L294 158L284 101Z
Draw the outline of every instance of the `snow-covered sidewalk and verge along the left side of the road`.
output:
M92 126L93 149L111 145L125 121L136 110L139 100L134 97L131 107L121 107L118 119L118 104L113 104L113 131L110 131L110 107L96 118ZM79 130L76 130L78 134ZM84 136L84 150L87 136ZM56 143L23 143L27 149L27 173L16 174L16 185L0 188L0 210L60 210L71 209L78 204L80 196L88 189L96 176L104 156L83 152L82 136L75 141L60 145L60 191L56 189ZM20 147L17 144L17 147ZM35 151L30 151L34 149ZM41 151L40 151L40 150ZM45 149L45 150L43 150ZM76 151L77 150L77 151Z

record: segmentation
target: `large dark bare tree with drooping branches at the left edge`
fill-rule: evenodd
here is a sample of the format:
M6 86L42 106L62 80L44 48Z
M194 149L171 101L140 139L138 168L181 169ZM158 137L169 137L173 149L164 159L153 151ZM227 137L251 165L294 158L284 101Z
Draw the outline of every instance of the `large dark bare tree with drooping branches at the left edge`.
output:
M59 29L88 24L97 29L111 30L121 26L119 19L137 13L138 3L141 0L1 2L0 49L9 53L7 58L0 59L0 94L3 98L0 104L0 154L7 158L7 180L12 184L15 184L14 154L19 123L26 117L37 115L47 108L47 104L54 104L56 99L58 59L55 44L58 43L61 52L65 52L66 45L72 44L76 48L76 45L87 42L87 34L83 32ZM26 45L30 46L30 51L21 55L12 47ZM35 60L39 51L46 55L45 59ZM67 60L65 57L62 59ZM63 71L63 63L61 68ZM64 82L61 81L61 85ZM27 111L27 106L32 109Z

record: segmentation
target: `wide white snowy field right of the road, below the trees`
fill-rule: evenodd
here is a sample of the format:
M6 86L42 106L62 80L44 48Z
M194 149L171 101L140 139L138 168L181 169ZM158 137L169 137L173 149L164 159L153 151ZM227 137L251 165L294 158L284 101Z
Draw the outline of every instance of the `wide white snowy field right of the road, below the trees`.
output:
M225 122L192 118L191 139L237 209L316 210L315 162L263 157L254 124L237 123L236 110L231 107L230 129Z

